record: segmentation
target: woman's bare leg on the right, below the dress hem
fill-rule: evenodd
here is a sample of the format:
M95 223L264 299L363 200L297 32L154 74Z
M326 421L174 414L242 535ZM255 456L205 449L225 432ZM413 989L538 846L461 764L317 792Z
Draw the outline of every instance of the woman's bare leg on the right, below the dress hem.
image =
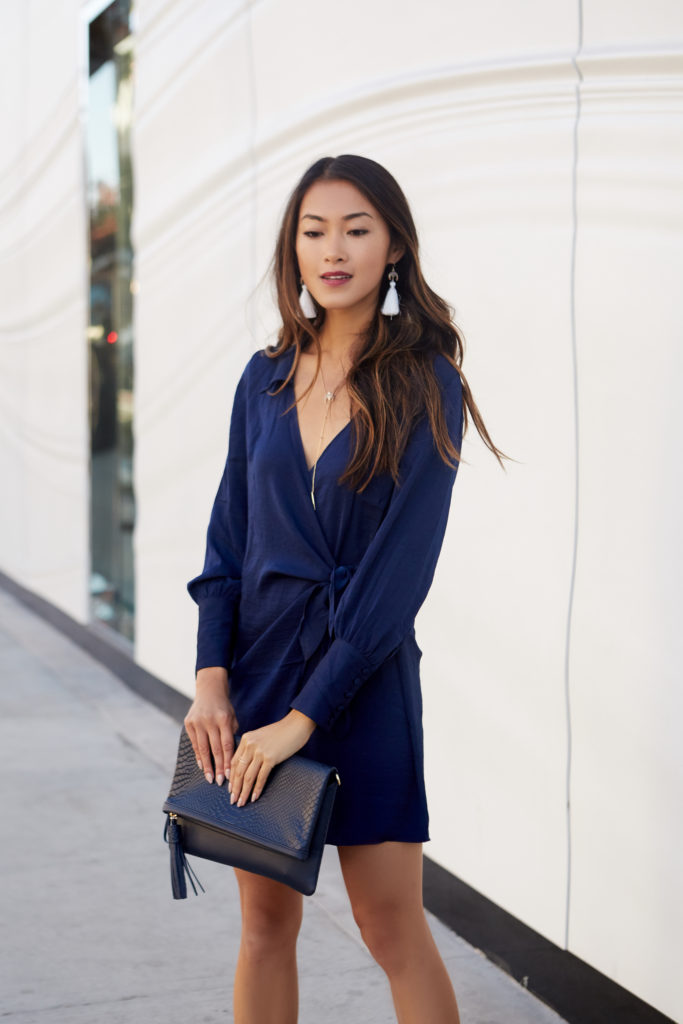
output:
M460 1024L422 905L422 844L340 846L339 860L353 916L389 979L399 1024Z

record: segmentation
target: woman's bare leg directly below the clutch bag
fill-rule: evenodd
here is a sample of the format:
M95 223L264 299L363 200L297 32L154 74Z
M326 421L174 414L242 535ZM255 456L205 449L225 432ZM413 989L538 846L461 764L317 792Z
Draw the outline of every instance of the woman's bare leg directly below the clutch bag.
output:
M242 871L242 941L234 975L234 1024L296 1024L296 941L303 897L280 882Z

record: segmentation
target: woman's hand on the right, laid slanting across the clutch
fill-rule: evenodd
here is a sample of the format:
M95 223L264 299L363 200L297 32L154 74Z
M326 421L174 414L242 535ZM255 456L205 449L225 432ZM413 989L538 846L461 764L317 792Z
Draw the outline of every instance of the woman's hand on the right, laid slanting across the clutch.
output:
M312 718L293 709L280 722L245 732L232 758L230 803L244 807L250 794L258 800L271 769L300 751L314 729Z

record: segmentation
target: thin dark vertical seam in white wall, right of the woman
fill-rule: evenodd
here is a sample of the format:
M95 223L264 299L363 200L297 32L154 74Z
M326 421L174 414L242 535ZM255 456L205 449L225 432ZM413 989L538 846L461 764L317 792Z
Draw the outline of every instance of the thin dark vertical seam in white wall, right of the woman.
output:
M569 578L569 600L567 603L567 625L564 647L564 700L566 715L567 761L566 761L566 894L564 908L564 948L569 948L569 913L571 908L571 701L569 689L569 660L571 649L571 624L573 616L574 586L577 580L577 555L579 550L579 359L577 351L577 234L579 228L578 169L579 169L579 125L581 121L581 86L583 76L578 58L584 41L583 0L578 0L579 39L577 52L571 63L577 74L574 87L575 108L571 154L571 260L569 269L569 325L571 335L571 366L573 377L573 423L574 423L574 509L573 547L571 552L571 573Z

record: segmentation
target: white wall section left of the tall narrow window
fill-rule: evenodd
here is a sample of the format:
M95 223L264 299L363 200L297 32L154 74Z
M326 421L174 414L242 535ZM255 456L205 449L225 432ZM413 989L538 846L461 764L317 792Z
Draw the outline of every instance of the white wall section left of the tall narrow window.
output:
M2 10L0 569L84 621L86 226L77 0Z

